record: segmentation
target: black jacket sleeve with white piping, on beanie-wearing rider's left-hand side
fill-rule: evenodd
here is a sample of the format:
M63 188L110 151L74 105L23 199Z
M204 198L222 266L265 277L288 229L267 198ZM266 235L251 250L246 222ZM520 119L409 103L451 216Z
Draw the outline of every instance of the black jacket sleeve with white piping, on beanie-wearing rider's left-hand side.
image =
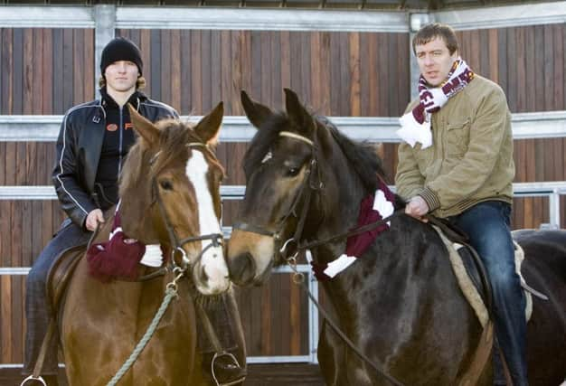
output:
M76 154L76 138L72 127L70 113L65 115L57 138L55 165L52 171L52 181L55 192L61 202L61 209L71 220L84 227L84 222L90 211L97 208L90 194L79 184L79 159Z

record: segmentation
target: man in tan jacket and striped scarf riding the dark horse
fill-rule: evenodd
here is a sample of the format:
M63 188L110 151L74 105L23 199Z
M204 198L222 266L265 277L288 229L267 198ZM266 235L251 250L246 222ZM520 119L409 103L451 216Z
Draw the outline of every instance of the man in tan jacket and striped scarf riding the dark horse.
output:
M503 90L476 75L458 56L454 31L429 24L416 33L419 99L398 131L397 193L405 212L432 213L465 231L482 258L494 297L495 337L514 386L527 385L524 295L514 270L510 231L513 137ZM505 384L495 359L494 384Z

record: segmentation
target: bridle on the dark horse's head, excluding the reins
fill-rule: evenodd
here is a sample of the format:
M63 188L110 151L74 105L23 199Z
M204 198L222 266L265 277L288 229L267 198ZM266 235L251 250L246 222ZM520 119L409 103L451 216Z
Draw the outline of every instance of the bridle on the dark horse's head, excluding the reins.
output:
M272 237L274 240L281 241L281 234L285 229L288 220L291 217L296 217L298 219L298 223L297 223L297 229L295 230L295 234L293 235L293 237L283 242L282 247L279 249L279 253L281 254L281 256L287 260L287 259L294 259L297 256L298 241L300 240L301 235L303 233L305 221L307 221L307 212L308 212L308 207L310 205L311 197L314 192L319 191L324 187L324 183L322 182L320 169L318 167L315 143L307 137L303 137L296 133L291 133L289 131L281 131L279 133L279 137L288 137L288 138L297 139L298 141L306 143L311 148L311 160L307 166L307 170L305 171L305 178L303 179L303 182L301 183L298 193L295 196L293 203L291 204L291 208L289 212L285 215L285 217L281 221L279 221L277 231L269 231L265 228L247 222L236 222L232 225L232 228L239 229L241 231L258 233L264 236ZM297 215L298 202L301 201L301 198L303 196L305 197L303 208L300 215ZM288 258L288 249L290 249L289 246L293 244L296 247L295 248L296 252L292 254L291 258Z

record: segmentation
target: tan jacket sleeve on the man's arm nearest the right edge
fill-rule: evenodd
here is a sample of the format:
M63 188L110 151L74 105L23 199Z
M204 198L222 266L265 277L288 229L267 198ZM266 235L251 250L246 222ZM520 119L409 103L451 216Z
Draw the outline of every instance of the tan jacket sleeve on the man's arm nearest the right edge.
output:
M420 195L430 210L450 208L467 200L492 174L511 119L502 89L481 99L469 129L467 153L448 174L429 182Z

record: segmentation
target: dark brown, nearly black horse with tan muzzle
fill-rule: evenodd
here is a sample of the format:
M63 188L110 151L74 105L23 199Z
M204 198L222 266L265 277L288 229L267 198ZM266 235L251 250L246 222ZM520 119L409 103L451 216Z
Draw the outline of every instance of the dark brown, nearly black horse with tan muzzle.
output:
M309 114L293 91L285 92L287 111L280 113L242 92L246 115L259 129L244 157L246 194L228 248L231 278L243 286L260 285L273 265L284 263L280 249L287 248L286 240L295 239L297 246L354 229L360 202L375 192L376 174L383 178L371 146L344 137L325 118ZM525 231L516 239L527 255L524 277L550 297L533 299L530 381L558 385L566 376L566 231ZM313 259L328 263L345 246L344 238L325 242L311 249ZM436 231L395 212L389 230L358 258L323 282L336 324L402 384L458 385L482 327ZM327 324L318 360L328 385L391 384ZM492 384L492 372L486 361L476 384Z

